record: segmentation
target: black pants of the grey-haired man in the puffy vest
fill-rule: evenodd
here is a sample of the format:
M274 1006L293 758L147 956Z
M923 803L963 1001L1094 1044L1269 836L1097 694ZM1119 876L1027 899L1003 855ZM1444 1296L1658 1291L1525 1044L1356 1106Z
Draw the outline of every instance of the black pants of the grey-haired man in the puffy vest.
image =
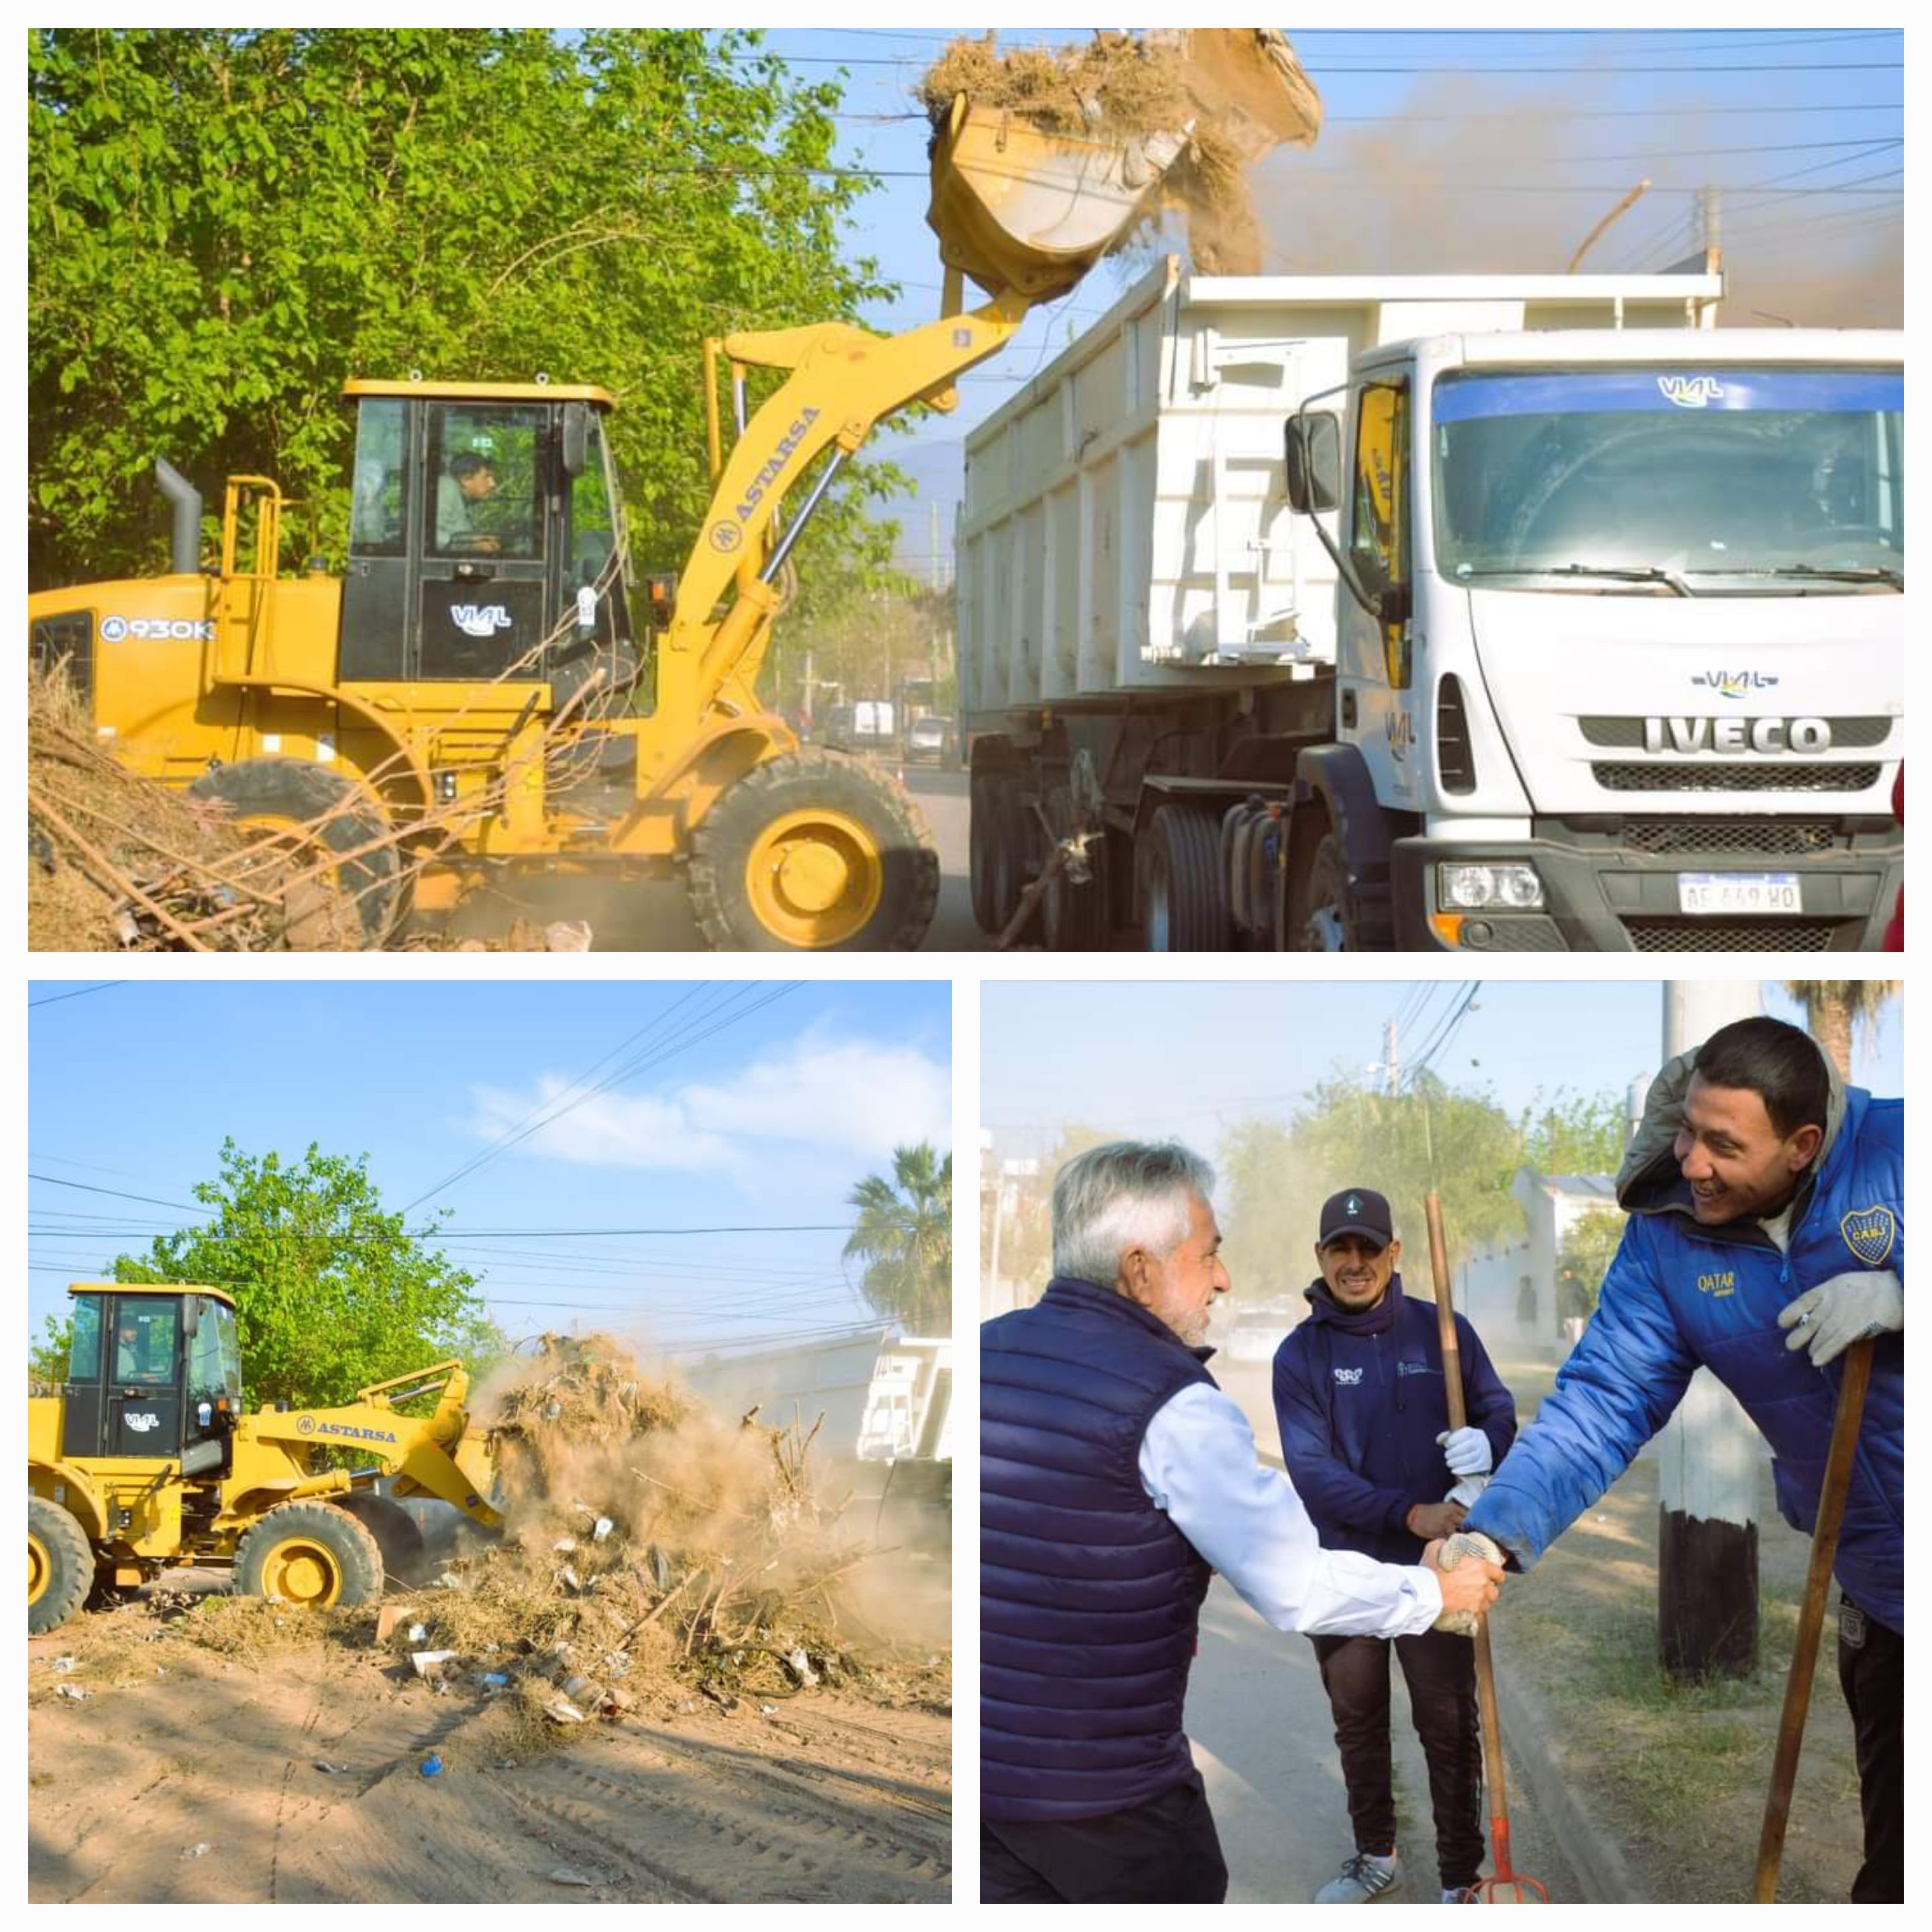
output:
M1219 1905L1225 1897L1227 1861L1200 1772L1103 1818L980 1820L981 1905Z

